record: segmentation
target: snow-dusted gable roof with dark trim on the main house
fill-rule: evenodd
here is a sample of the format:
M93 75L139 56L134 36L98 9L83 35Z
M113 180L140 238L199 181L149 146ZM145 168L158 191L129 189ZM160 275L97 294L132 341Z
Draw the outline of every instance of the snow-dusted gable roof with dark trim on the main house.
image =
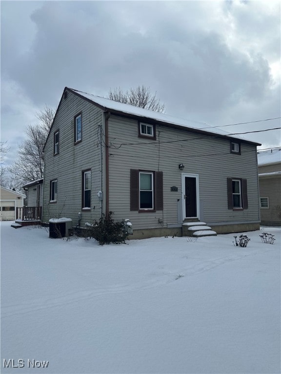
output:
M189 130L189 131L199 133L202 135L209 135L209 136L215 136L215 137L220 137L220 138L222 137L222 138L228 138L228 139L231 138L231 139L243 141L251 145L261 146L260 143L253 142L239 135L230 135L230 132L227 132L227 131L224 131L218 128L214 128L206 124L205 122L187 120L183 118L173 117L165 113L149 111L147 109L138 108L133 105L120 103L118 101L114 101L114 100L107 99L105 97L93 95L91 93L85 93L85 92L75 90L69 87L64 88L64 91L60 99L60 103L61 103L61 100L63 98L65 91L69 91L79 96L80 98L87 100L91 104L96 105L97 107L102 109L104 112L110 112L111 114L121 115L121 116L125 116L128 118L134 118L134 119L138 119L141 121L150 121L150 122L153 121L154 123L158 123L159 125L162 124L162 125L170 126L173 128L178 128L181 130L185 129L185 130ZM60 103L59 103L58 109L60 107ZM57 109L57 112L58 112L58 109ZM56 115L54 117L54 120L56 118Z

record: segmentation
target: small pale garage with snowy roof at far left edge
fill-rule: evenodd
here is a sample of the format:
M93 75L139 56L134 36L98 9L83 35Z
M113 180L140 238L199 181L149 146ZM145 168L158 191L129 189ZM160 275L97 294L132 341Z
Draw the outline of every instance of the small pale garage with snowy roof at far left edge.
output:
M15 221L17 208L22 208L25 195L1 186L0 221Z

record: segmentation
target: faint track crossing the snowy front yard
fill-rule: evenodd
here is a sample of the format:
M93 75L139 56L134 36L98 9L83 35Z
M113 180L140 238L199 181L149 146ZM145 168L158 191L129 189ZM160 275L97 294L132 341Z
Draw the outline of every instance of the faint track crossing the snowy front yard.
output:
M231 255L231 256L226 256L226 257L221 257L221 258L215 258L215 259L195 263L191 266L181 269L180 271L185 272L184 277L189 277L189 276L193 276L196 274L209 271L227 262L237 261L244 257L254 256L254 255L258 255L258 254L269 252L269 251L270 250L265 250L265 251L255 252L255 253L248 253L244 255ZM16 316L16 315L31 313L31 312L35 312L41 309L54 308L57 306L66 305L66 304L74 303L77 301L93 299L99 296L116 295L116 294L122 294L126 292L135 292L135 291L141 291L141 290L146 290L150 288L160 287L160 286L176 281L175 276L177 274L179 274L179 271L164 273L164 276L166 277L169 276L169 279L164 279L161 281L153 279L153 280L146 281L146 282L135 283L133 285L123 285L123 286L119 285L119 286L110 286L106 288L97 288L94 290L77 291L77 292L70 293L68 295L60 296L57 298L35 299L25 304L13 304L13 305L7 305L7 306L2 305L1 306L1 318L7 318L7 317ZM157 275L157 273L154 273L154 275ZM161 275L163 275L163 273ZM171 276L173 276L173 279L170 278Z

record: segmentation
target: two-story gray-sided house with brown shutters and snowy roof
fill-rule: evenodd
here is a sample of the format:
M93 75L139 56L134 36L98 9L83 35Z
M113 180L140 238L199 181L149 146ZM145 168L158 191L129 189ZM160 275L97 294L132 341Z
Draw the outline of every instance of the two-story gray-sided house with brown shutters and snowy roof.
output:
M43 223L129 219L132 238L260 227L258 143L65 88L44 147ZM80 213L80 214L79 214Z

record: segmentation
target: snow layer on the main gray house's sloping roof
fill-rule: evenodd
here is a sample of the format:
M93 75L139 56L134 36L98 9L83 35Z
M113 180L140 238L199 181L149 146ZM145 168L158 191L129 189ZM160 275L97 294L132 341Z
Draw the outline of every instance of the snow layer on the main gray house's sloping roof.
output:
M221 130L221 129L218 129L218 128L214 128L214 127L206 124L205 122L198 122L198 121L173 117L173 116L170 116L170 115L165 114L165 113L149 111L148 109L138 108L138 107L135 107L133 105L120 103L118 101L110 100L110 99L107 99L105 97L96 96L96 95L92 95L91 93L85 93L85 92L82 92L82 91L78 91L78 90L75 90L73 88L67 87L67 89L70 90L70 91L79 93L81 96L93 101L94 103L97 103L97 104L101 105L104 108L111 109L111 110L114 110L114 111L119 111L119 112L123 112L123 113L127 113L127 114L133 114L133 115L137 115L137 116L144 117L144 118L154 119L154 120L160 121L160 122L167 122L167 123L170 123L170 124L173 124L173 125L178 125L178 126L181 126L181 127L186 127L186 128L195 129L195 130L202 130L202 131L215 133L215 134L220 134L220 135L229 135L230 134L230 132L227 132L227 131L224 131L224 130ZM252 142L251 140L246 139L243 136L239 136L239 135L234 135L234 136L229 136L229 137L239 138L239 139L243 139L243 140ZM252 143L254 143L254 142L252 142Z

